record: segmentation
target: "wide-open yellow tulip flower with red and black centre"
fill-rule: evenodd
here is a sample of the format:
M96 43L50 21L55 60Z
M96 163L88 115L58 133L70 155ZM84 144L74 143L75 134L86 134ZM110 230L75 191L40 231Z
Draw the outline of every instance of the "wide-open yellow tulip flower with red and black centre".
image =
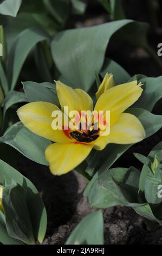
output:
M39 136L55 143L46 149L46 159L51 173L62 175L78 166L94 148L102 150L108 143L132 144L145 138L145 130L139 119L132 114L124 113L142 93L141 84L137 81L113 86L112 75L106 74L96 97L95 111L110 111L110 133L101 136L101 131L90 130L53 130L51 123L53 111L61 111L56 105L48 102L31 102L18 109L17 114L24 126ZM56 82L57 96L63 109L69 111L93 111L91 97L82 89L73 89L60 81Z

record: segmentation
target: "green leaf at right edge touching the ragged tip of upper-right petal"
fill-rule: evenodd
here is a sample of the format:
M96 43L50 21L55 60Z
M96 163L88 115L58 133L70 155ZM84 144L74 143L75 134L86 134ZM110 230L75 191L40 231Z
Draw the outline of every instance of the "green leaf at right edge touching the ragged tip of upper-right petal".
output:
M144 85L139 100L134 103L133 107L144 108L152 111L155 103L162 97L162 76L159 77L144 77L140 80Z

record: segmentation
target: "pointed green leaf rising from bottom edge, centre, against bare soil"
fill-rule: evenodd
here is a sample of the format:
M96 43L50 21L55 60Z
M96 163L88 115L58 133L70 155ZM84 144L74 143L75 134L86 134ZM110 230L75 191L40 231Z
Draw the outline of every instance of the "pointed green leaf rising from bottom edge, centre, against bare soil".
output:
M66 245L103 245L102 211L84 218L69 236Z

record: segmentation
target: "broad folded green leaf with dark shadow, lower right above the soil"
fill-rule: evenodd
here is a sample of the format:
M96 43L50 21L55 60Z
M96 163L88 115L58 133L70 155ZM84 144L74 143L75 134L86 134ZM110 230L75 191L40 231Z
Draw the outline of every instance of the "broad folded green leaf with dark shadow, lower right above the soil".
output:
M89 204L98 208L138 205L139 176L133 167L106 170L94 180L88 194Z

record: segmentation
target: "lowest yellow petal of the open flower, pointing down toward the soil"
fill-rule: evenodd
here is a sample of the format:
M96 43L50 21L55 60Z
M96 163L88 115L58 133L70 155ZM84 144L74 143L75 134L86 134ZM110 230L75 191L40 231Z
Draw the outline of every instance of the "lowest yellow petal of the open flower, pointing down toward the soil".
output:
M45 151L51 173L62 175L78 166L92 150L93 145L84 143L54 143Z

